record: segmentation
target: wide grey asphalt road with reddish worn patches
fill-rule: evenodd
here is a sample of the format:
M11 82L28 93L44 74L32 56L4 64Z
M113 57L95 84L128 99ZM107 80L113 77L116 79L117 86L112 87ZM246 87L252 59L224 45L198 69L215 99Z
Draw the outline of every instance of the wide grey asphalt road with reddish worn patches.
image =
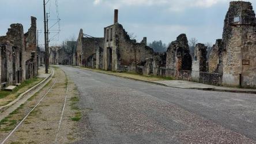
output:
M168 88L60 67L81 93L78 143L256 141L256 94Z

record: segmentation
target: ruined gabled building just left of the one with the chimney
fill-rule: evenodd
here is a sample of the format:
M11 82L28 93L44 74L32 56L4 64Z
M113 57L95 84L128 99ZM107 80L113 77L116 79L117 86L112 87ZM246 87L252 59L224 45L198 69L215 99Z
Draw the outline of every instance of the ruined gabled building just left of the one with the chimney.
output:
M84 37L85 36L85 37ZM104 47L103 37L91 37L85 35L80 29L77 39L77 65L99 69L99 60L96 60L96 51L100 52ZM99 62L96 64L96 62Z

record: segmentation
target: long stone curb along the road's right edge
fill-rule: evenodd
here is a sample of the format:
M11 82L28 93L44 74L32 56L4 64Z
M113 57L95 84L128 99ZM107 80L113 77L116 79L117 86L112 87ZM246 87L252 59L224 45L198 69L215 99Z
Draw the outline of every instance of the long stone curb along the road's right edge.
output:
M77 67L77 66L69 66L69 67L74 67L74 68L77 68L77 69L82 69L82 67ZM90 69L82 69L82 70L93 71L93 70L90 70ZM100 72L100 71L93 71L93 72L101 73L101 74L108 74L108 73L103 73L103 72ZM169 88L195 89L195 90L215 91L215 92L231 92L231 93L249 93L249 94L256 94L256 91L249 91L249 90L246 91L246 90L228 90L228 89L216 89L216 88L179 88L179 87L177 87L177 86L168 86L168 85L165 85L165 84L161 84L161 83L159 83L159 82L145 81L145 80L136 79L136 78L124 77L124 76L121 76L121 75L115 75L115 74L108 74L108 75L114 75L114 76L116 76L116 77L122 77L122 78L126 78L126 79L133 79L133 80L135 80L135 81L147 82L147 83L150 83L150 84L156 84L156 85L161 85L161 86L167 86L167 87L169 87Z

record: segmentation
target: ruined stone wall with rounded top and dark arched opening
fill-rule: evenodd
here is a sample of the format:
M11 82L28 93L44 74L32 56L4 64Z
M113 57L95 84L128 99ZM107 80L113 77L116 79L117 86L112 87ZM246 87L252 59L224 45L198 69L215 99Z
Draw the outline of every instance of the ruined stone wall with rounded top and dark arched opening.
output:
M192 58L186 34L181 34L172 41L167 49L166 75L175 77L182 71L191 71Z

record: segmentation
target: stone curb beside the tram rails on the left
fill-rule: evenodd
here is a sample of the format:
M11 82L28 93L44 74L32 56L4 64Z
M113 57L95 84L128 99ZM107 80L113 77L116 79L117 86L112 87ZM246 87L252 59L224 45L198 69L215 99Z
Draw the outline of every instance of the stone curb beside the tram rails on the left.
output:
M0 113L2 113L3 111L5 111L6 109L10 108L12 105L16 104L18 101L21 100L21 98L23 98L24 96L26 96L28 93L32 92L33 90L39 88L39 86L42 85L46 85L46 81L50 78L52 78L52 76L54 75L54 70L51 69L51 73L50 75L48 75L48 77L44 78L43 81L39 82L38 84L36 84L35 86L33 86L32 88L26 90L24 93L21 93L20 96L18 96L18 98L16 98L15 100L13 100L12 102L10 102L7 105L3 105L2 107L0 107ZM40 89L39 89L40 90ZM38 91L39 91L38 90Z

